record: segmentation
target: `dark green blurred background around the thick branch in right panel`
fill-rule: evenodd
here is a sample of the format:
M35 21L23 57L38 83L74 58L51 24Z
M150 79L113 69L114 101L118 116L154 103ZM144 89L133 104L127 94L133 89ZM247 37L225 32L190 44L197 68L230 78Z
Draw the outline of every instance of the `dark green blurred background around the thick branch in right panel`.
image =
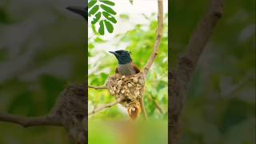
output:
M255 143L255 1L225 0L187 91L182 141L189 144ZM208 1L170 4L170 69L177 66Z

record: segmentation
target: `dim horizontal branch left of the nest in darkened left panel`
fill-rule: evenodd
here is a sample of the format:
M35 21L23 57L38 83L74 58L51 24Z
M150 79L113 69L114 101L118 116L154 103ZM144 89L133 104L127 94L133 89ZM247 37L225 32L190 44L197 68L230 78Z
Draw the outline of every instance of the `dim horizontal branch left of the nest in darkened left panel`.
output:
M62 126L62 122L58 118L45 116L37 118L28 118L11 114L1 114L0 122L12 122L24 127L30 126Z

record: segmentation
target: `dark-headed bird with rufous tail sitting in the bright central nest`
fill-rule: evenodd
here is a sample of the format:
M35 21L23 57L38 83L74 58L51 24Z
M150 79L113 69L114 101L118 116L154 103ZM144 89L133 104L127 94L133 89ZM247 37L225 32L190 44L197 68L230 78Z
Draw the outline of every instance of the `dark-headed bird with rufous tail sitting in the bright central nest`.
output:
M118 67L115 69L116 74L121 75L132 75L140 73L138 66L136 66L130 57L130 51L126 50L117 50L117 51L109 51L111 54L118 59ZM130 118L135 121L138 118L138 114L141 113L141 99L140 102L131 102L128 107L128 115Z

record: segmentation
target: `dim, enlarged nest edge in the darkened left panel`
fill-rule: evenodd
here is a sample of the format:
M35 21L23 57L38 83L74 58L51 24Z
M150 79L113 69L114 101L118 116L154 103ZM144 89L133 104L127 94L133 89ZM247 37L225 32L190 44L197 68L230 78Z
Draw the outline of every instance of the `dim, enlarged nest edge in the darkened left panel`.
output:
M86 86L68 86L58 98L51 116L59 119L78 144L86 143Z

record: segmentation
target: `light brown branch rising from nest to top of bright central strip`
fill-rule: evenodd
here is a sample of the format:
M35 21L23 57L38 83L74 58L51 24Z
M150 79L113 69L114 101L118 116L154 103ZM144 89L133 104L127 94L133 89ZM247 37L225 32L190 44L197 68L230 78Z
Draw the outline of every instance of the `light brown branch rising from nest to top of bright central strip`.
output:
M147 72L150 70L154 62L154 58L158 55L159 45L162 39L162 29L163 29L163 2L162 0L158 0L158 29L157 29L157 37L156 41L154 42L154 51L151 54L150 58L146 62L146 66L144 67L144 74L146 75Z

